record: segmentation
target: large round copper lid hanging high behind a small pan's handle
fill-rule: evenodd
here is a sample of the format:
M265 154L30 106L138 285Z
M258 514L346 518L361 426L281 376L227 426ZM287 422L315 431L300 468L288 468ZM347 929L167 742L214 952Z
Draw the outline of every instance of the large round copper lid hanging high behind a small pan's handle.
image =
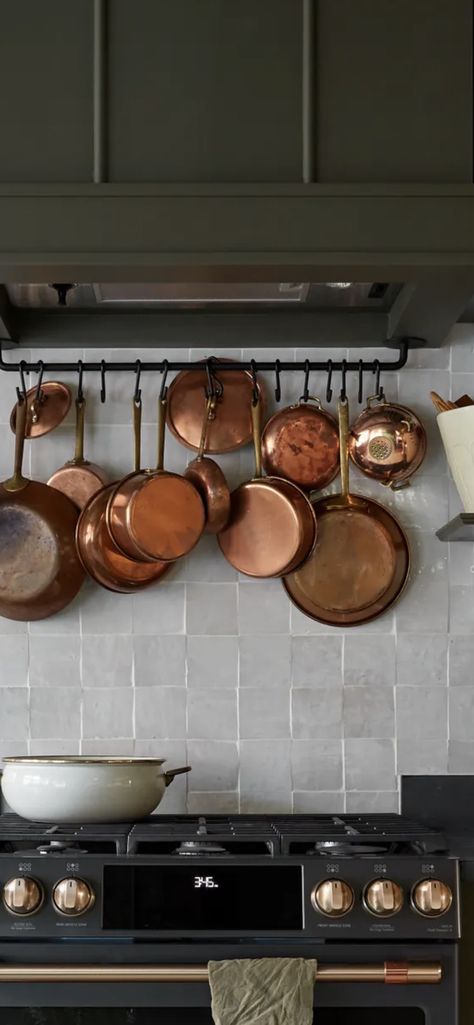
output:
M226 360L226 362L231 362ZM253 394L248 370L226 370L207 430L206 451L211 454L235 452L251 441L250 406ZM186 448L199 449L202 419L206 408L206 370L182 370L168 388L167 423L174 438ZM258 385L262 403L265 395Z

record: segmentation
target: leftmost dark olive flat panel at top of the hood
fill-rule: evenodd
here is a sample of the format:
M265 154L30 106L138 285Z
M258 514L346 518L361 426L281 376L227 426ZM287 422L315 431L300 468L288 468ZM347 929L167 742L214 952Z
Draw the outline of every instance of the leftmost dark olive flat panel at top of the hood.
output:
M90 181L92 0L1 13L0 181Z

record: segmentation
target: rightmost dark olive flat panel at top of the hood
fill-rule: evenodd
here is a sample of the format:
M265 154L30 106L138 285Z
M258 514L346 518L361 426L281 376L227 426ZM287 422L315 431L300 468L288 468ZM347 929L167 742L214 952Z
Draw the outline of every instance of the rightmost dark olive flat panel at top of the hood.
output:
M471 182L472 0L317 0L320 181Z

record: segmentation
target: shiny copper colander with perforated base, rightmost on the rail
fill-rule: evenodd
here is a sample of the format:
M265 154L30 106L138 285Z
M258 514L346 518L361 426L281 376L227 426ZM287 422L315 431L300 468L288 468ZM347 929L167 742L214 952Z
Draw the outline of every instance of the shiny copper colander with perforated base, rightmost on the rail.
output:
M421 466L427 449L423 423L406 406L367 400L349 436L353 463L380 484L393 489L405 487Z

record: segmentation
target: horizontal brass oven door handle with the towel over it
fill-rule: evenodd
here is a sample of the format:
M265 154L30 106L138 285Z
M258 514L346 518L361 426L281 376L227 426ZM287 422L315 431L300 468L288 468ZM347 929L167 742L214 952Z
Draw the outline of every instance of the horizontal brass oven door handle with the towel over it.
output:
M316 982L384 982L390 985L441 982L435 961L376 965L318 965ZM207 982L206 965L0 965L2 982Z

